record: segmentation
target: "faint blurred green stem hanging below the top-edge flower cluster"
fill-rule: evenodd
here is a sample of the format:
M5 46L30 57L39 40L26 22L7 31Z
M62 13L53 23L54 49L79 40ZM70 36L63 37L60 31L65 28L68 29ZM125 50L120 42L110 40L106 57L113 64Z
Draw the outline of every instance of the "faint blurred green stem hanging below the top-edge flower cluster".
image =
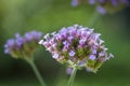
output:
M93 15L91 17L91 19L89 20L89 26L92 27L96 20L101 17L102 15L100 13L98 13L96 11L93 12Z

